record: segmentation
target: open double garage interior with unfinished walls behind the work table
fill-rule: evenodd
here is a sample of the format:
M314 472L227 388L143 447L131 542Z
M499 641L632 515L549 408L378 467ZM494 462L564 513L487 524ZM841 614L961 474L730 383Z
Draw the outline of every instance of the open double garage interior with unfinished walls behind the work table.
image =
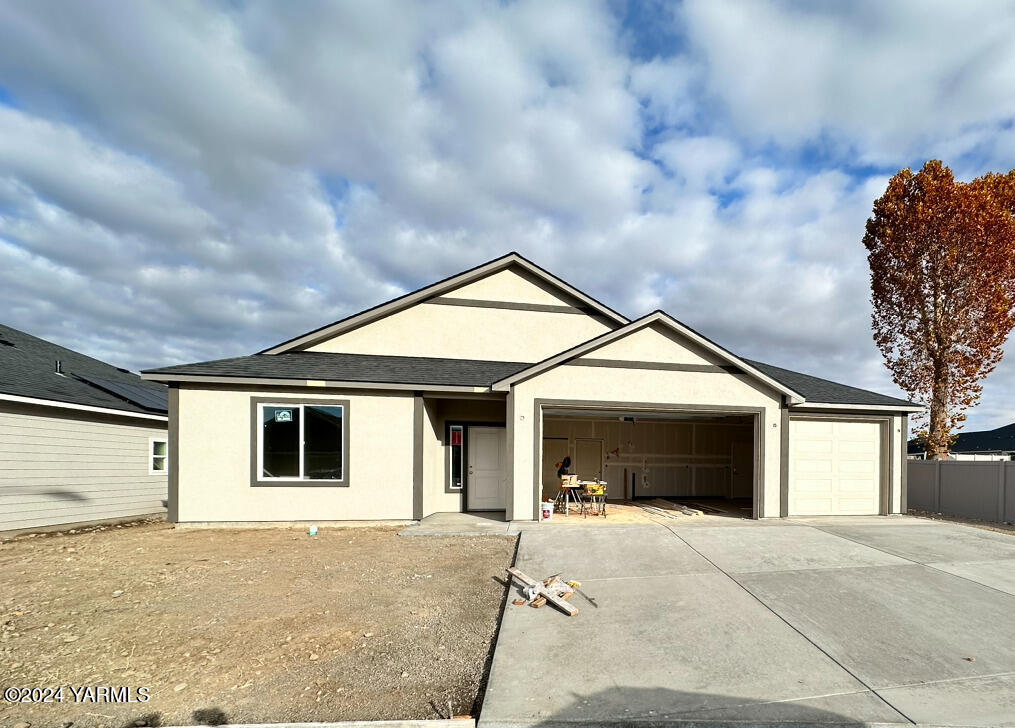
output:
M757 415L543 409L542 498L569 456L580 480L602 479L609 500L664 499L713 515L756 518Z

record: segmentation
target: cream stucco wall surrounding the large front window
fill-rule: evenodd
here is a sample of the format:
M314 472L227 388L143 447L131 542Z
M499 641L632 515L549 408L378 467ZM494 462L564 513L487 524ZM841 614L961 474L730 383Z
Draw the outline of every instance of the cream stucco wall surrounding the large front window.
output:
M412 519L411 393L182 388L178 396L181 522ZM253 397L348 400L349 484L252 486Z

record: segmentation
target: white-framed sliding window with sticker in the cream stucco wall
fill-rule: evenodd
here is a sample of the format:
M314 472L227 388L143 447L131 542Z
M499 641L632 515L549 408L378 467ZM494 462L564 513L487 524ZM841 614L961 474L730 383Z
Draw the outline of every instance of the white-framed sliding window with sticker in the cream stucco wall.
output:
M259 404L258 480L341 481L344 405Z

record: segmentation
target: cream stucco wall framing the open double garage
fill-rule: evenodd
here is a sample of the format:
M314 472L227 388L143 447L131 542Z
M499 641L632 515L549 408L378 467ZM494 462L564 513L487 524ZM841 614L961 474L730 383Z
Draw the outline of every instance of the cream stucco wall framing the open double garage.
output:
M618 407L640 402L673 409L679 409L681 405L759 408L763 413L764 453L760 471L763 515L771 517L780 514L781 399L776 393L763 390L743 376L726 372L564 365L516 385L511 396L509 411L514 429L511 439L514 486L509 518L530 520L536 515L533 472L534 468L541 467L542 440L541 436L536 437L540 429L537 399L596 402Z

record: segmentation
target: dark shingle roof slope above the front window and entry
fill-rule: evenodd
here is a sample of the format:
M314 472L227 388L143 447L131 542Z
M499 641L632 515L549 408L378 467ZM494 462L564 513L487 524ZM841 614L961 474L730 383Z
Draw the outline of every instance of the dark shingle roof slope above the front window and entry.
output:
M487 387L531 366L518 361L287 351L164 367L146 370L144 374Z

